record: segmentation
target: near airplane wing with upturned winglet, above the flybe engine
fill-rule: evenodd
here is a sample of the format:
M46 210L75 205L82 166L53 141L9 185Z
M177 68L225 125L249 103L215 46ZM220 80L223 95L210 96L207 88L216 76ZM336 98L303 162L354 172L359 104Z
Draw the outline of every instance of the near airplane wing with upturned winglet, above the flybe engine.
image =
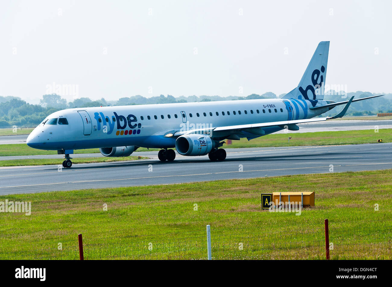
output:
M336 118L341 118L345 115L347 112L348 107L350 106L350 103L353 101L354 96L350 98L350 100L347 101L346 106L344 109L336 114L333 117L328 117L328 118L313 118L313 119L297 119L297 120L292 120L292 121L271 121L268 123L253 123L253 124L247 124L247 125L233 125L233 126L225 126L225 127L212 127L212 128L206 128L206 129L194 129L194 130L188 130L188 131L178 131L174 133L174 136L180 136L180 135L185 135L185 134L195 134L195 133L207 133L207 134L214 134L216 132L231 132L231 131L245 131L245 132L250 132L255 135L263 135L264 132L262 130L263 127L272 127L272 126L280 126L282 128L287 128L289 130L299 130L299 127L296 126L298 123L311 123L311 122L316 122L316 121L326 121L327 119L336 119ZM285 127L287 126L287 127Z

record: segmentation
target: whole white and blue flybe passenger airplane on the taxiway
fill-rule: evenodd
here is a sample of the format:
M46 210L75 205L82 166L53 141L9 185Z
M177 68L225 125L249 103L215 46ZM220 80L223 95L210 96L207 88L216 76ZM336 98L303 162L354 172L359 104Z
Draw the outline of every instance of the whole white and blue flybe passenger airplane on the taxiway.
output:
M54 112L27 137L27 145L64 154L71 168L74 150L99 148L105 157L126 157L139 147L160 148L158 159L171 162L176 153L225 160L225 139L248 140L297 124L341 118L352 102L324 100L329 41L320 42L298 86L276 99L166 103L65 109ZM332 117L315 118L338 105Z

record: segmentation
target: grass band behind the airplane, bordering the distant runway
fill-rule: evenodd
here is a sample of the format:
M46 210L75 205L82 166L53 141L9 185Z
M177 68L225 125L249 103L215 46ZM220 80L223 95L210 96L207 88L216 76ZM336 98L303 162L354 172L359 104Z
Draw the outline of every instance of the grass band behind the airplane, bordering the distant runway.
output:
M288 137L291 136L290 142ZM287 134L270 134L257 139L248 141L232 141L232 144L224 144L225 148L252 148L252 147L269 147L269 146L318 146L334 144L364 144L377 143L377 139L382 139L384 143L392 141L391 129L380 129L378 133L374 130L349 130L335 132L307 132L307 133L287 133ZM149 149L158 151L159 149ZM137 152L147 151L147 148L139 148ZM134 153L134 154L137 154ZM99 153L98 148L86 150L75 150L74 153ZM57 151L36 150L26 144L2 144L0 148L0 157L15 155L55 155Z

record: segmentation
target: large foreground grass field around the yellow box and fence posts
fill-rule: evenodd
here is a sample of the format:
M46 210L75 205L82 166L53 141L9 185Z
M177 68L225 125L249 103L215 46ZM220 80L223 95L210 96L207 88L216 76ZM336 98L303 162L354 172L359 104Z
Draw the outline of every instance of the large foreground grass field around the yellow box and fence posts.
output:
M0 196L32 205L30 216L0 213L0 258L76 259L79 233L87 259L205 258L210 224L213 258L323 259L328 218L332 259L390 259L391 172ZM299 216L261 209L261 193L285 191L314 191L316 206Z

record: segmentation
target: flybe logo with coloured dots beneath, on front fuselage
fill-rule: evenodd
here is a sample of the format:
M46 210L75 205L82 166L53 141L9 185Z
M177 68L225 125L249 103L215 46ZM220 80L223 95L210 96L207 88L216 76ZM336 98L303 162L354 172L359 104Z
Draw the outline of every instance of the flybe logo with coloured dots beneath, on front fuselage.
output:
M129 114L127 117L118 115L113 112L114 116L108 117L103 112L94 112L94 119L97 123L97 130L103 130L108 135L113 133L116 129L116 135L131 135L140 134L141 123L138 123L138 118L133 114Z

